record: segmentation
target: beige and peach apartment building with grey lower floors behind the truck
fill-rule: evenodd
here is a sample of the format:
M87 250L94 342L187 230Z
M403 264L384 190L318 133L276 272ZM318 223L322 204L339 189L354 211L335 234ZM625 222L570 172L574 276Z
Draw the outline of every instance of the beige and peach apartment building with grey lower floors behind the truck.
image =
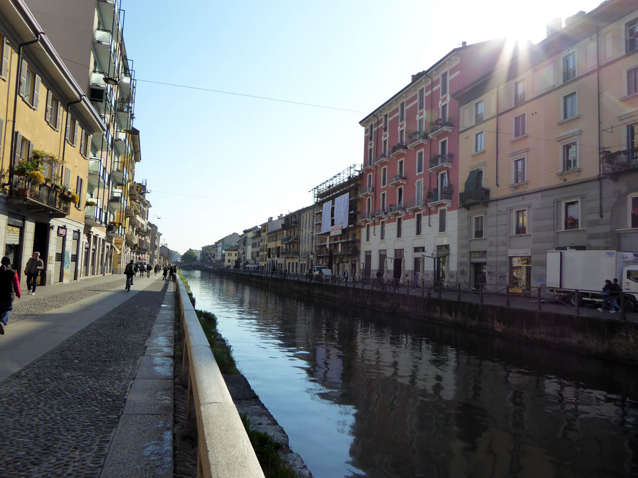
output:
M524 290L545 283L548 250L638 250L638 4L579 12L501 58L455 94L459 282Z

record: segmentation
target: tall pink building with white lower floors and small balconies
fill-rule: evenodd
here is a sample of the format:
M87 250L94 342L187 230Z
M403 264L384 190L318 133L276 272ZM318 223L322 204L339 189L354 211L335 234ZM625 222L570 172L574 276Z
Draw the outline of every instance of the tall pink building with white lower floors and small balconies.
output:
M459 105L452 93L491 71L503 45L463 43L360 121L366 277L381 270L386 278L456 282Z

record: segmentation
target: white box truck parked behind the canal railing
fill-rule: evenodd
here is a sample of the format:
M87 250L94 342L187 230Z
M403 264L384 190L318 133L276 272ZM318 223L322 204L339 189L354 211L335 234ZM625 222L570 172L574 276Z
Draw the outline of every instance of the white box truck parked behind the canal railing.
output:
M568 296L574 305L574 289L579 301L602 301L605 279L618 279L625 293L625 308L638 307L638 252L618 250L548 250L545 286Z

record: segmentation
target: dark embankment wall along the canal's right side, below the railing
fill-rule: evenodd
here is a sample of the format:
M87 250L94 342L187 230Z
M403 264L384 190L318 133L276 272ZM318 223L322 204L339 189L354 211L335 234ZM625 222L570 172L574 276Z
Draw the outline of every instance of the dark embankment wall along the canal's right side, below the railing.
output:
M620 320L618 315L592 317L355 287L334 287L317 282L276 277L225 271L218 273L260 287L321 298L339 307L382 310L394 315L447 324L580 354L638 363L638 321Z

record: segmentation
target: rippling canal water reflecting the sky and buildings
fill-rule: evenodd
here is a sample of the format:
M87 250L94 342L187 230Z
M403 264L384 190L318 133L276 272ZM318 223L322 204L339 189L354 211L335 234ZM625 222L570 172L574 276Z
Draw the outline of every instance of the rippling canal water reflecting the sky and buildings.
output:
M638 476L634 366L183 273L315 478Z

